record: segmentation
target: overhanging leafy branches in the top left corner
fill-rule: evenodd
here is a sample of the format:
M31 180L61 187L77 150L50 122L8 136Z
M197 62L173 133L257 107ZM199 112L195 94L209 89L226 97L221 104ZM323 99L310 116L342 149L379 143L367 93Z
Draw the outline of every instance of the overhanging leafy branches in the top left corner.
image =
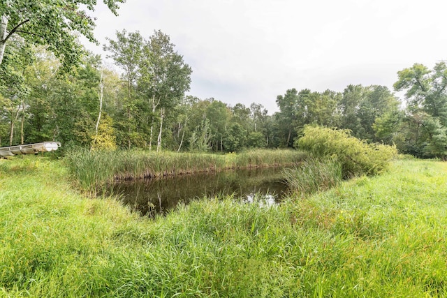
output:
M108 8L117 15L119 3L125 0L104 0ZM80 5L94 10L96 0L0 1L0 65L6 45L12 36L22 36L27 43L47 45L54 52L64 70L80 62L82 47L77 43L77 32L91 42L95 20L87 15Z

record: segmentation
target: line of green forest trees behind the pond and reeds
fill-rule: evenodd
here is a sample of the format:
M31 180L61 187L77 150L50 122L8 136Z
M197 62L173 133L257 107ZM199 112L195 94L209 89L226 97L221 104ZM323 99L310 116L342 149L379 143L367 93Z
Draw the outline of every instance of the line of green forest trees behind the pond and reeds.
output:
M120 69L89 52L69 64L43 45L8 40L0 65L0 145L55 140L65 149L141 148L233 152L293 147L306 125L346 128L366 142L395 144L403 154L447 156L447 66L414 64L387 87L344 91L292 88L279 112L185 96L191 67L168 35L117 32L104 49ZM62 63L64 62L64 63Z

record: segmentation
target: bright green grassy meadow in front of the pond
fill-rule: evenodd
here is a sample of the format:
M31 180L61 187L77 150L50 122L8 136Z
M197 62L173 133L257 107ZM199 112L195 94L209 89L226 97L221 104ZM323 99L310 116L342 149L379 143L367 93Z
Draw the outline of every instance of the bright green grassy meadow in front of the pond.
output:
M446 173L396 161L273 208L151 221L83 198L59 161L0 161L0 296L447 297Z

